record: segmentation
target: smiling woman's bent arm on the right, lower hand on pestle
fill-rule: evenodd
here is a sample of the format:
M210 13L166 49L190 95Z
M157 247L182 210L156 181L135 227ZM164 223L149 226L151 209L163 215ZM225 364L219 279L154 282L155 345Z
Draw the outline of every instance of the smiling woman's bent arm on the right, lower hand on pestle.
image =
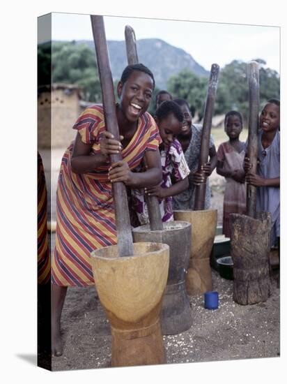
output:
M125 161L118 161L111 165L109 179L111 182L124 182L131 188L155 186L162 182L162 164L160 152L146 151L146 171L132 172Z

